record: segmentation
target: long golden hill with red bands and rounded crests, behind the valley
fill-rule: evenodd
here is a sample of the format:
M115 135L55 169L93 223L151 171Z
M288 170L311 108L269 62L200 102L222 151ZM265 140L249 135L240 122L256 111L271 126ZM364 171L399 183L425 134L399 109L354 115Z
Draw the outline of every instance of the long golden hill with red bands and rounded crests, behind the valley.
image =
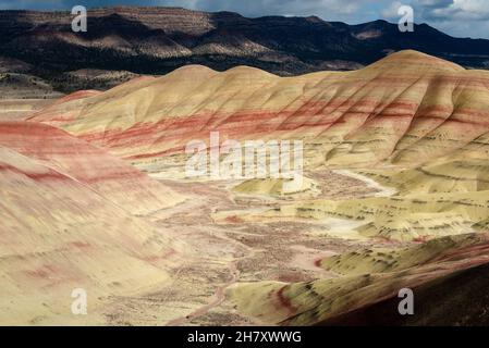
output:
M34 116L137 165L164 171L190 139L303 139L308 166L412 165L487 156L489 73L416 51L354 72L281 78L191 65ZM66 114L68 116L63 116ZM175 158L176 162L183 159ZM161 163L160 163L161 162Z

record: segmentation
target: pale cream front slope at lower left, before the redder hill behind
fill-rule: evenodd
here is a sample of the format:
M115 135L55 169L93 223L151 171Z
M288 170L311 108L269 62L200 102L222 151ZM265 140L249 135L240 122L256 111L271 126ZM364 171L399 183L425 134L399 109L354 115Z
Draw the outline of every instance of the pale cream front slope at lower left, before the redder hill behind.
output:
M0 146L0 196L2 324L103 323L113 296L168 284L179 244L45 161Z

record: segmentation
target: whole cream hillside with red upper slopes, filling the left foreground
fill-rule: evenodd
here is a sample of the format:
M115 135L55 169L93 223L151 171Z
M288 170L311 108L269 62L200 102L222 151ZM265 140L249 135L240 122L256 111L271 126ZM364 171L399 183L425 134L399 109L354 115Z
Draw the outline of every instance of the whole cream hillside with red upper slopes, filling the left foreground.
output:
M135 214L179 196L105 151L51 126L0 122L0 191L2 324L76 321L78 287L91 299L84 320L102 323L109 296L170 279L181 243Z

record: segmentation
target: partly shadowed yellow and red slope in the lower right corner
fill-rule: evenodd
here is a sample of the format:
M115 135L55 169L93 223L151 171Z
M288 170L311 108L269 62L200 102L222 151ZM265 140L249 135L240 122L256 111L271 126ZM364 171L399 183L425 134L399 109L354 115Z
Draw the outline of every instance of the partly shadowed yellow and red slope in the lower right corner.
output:
M455 279L467 279L464 274L487 274L487 234L440 238L401 251L359 250L340 257L347 260L341 263L342 273L350 269L347 265L352 268L346 271L346 276L295 284L241 284L230 288L229 296L241 311L282 325L468 324L472 320L477 321L464 314L480 312L472 307L472 299L466 293L464 296L466 284L457 284ZM338 257L327 260L323 265L330 268L333 262L333 266L339 266L337 260ZM477 284L477 279L470 276L467 281L472 285ZM426 304L424 308L416 303L424 316L419 313L412 318L399 314L398 291L404 287L414 289L416 300ZM436 289L445 302L437 300ZM479 291L480 287L476 286L473 290ZM440 307L433 307L427 301L428 291ZM487 297L482 296L478 301L482 308L487 308ZM382 303L384 314L392 322L382 319L380 310L372 310ZM450 304L453 304L451 310ZM368 315L370 313L371 316ZM442 313L448 315L443 316ZM479 319L485 320L486 315L482 313Z

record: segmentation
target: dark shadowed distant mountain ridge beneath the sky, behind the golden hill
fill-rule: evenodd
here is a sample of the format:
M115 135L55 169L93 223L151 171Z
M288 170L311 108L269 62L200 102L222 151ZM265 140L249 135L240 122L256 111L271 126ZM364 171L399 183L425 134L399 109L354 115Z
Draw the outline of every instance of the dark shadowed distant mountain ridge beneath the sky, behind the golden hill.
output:
M317 16L247 18L233 12L118 7L89 10L88 32L73 33L72 18L68 11L0 11L0 61L15 62L1 71L20 73L22 65L23 74L68 92L106 89L134 73L159 75L187 64L218 71L249 65L282 76L355 70L404 49L465 67L489 66L489 40L453 38L426 24L401 33L386 21L347 25ZM124 73L91 83L80 70Z

